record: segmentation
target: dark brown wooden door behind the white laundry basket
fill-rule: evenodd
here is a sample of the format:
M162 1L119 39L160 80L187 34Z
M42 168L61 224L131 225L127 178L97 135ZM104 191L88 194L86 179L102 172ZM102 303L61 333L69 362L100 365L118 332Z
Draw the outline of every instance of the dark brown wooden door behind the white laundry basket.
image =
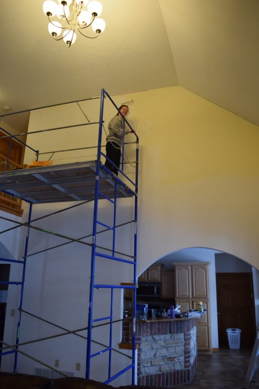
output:
M228 344L226 329L240 328L241 344L256 338L252 273L216 273L219 344Z

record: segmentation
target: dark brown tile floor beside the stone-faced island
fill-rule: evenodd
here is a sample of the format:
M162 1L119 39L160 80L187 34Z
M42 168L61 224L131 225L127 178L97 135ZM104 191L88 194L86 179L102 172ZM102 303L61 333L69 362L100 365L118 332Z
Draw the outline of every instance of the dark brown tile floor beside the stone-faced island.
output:
M198 354L198 367L190 384L178 385L177 389L243 389L251 349L230 350L220 348L211 355ZM249 389L259 389L259 370Z

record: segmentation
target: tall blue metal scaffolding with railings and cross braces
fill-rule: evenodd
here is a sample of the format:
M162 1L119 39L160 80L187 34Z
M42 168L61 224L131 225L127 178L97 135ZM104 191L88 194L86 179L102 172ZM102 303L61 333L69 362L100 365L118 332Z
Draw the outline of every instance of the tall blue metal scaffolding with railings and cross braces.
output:
M103 354L108 353L108 366L107 366L107 378L104 381L105 383L109 383L113 381L115 378L120 376L121 374L125 373L126 371L131 370L132 371L132 384L135 384L135 375L136 375L136 362L135 362L135 349L136 349L136 343L135 343L135 322L136 322L136 286L137 286L137 216L138 216L138 136L135 133L136 140L132 143L136 144L136 159L134 161L135 165L135 178L132 179L124 172L124 145L127 144L126 142L122 145L122 164L121 168L119 169L119 177L117 177L115 174L111 173L109 169L107 169L104 166L104 163L102 160L106 160L106 155L102 151L102 148L104 145L102 145L102 135L103 135L103 125L104 125L104 103L105 99L107 99L116 110L119 111L116 104L113 102L111 97L108 95L108 93L102 89L101 96L98 97L100 99L100 120L99 123L94 122L90 123L87 121L87 123L84 123L84 125L89 124L98 124L99 126L99 133L98 133L98 145L97 148L97 159L86 161L86 162L74 162L74 163L68 163L68 164L62 164L62 165L52 165L52 166L41 166L41 167L30 167L25 169L16 169L16 170L8 170L9 166L9 155L10 155L10 148L13 139L23 144L24 147L29 147L34 153L35 153L35 160L37 161L39 159L39 156L46 153L40 153L39 150L35 150L34 148L30 147L28 144L23 143L19 140L19 136L14 136L7 132L4 128L0 127L0 130L4 132L6 135L2 138L9 139L10 148L8 151L7 159L6 159L6 169L4 172L0 173L0 191L7 193L8 195L13 195L15 198L22 199L29 203L29 212L28 212L28 220L26 223L17 222L13 219L7 218L7 217L0 217L1 219L14 223L15 226L8 229L3 230L0 233L13 230L19 227L25 227L27 229L26 234L26 242L25 242L25 249L24 249L24 255L22 259L8 259L8 258L0 258L0 261L6 262L6 263L12 263L12 264L19 264L22 265L22 279L21 281L8 281L3 282L0 281L0 283L4 284L16 284L20 286L20 298L19 298L19 308L18 308L18 320L17 320L17 335L16 335L16 343L13 345L7 344L2 339L0 342L2 343L2 348L0 352L0 357L7 355L7 354L15 354L14 358L14 367L13 371L17 371L18 368L18 355L23 354L25 356L28 356L29 358L36 360L42 365L47 366L48 368L52 369L53 371L57 371L61 375L66 376L64 372L59 371L53 366L49 366L45 364L42 361L39 361L32 355L28 355L22 351L22 345L28 344L30 342L26 343L20 343L20 331L22 331L21 321L22 321L22 315L30 315L34 318L37 318L39 320L45 321L54 327L62 329L63 332L61 335L67 335L67 334L74 334L75 336L81 336L84 339L86 339L86 378L91 379L91 366L93 364L94 357ZM95 98L94 98L95 99ZM86 99L87 100L87 99ZM85 101L85 100L81 100ZM69 102L69 103L62 103L62 104L71 104L71 103L79 103L76 102ZM59 104L60 105L60 104ZM57 106L59 106L57 105ZM47 106L50 107L50 106ZM39 107L35 109L42 109L47 108L45 107ZM27 111L22 111L27 112ZM21 113L21 112L17 112ZM8 116L10 114L7 114L5 116ZM4 115L3 115L4 116ZM123 131L125 128L125 124L128 128L133 130L131 125L124 119L124 125L123 125ZM44 131L54 131L54 130L60 130L62 128L68 128L68 127L75 127L77 125L82 124L75 124L65 127L55 127L52 129L46 129L46 130L40 130L40 131L33 131L30 132L31 134L35 134L37 132L44 132ZM28 133L29 134L29 133ZM20 134L23 135L23 134ZM104 141L104 140L103 140ZM78 149L69 149L69 151L78 150ZM62 150L63 151L63 150ZM68 151L68 150L65 150ZM53 154L55 152L59 151L51 151L49 154ZM54 177L54 178L53 178ZM116 237L117 237L117 230L121 227L121 225L118 225L117 223L117 200L121 197L134 197L134 219L129 220L125 224L132 224L133 225L133 231L134 236L132 237L133 242L133 253L127 254L127 253L121 253L116 250ZM102 200L102 206L104 205L104 202L108 202L113 207L112 212L112 221L111 223L107 224L104 223L99 218L99 207L100 207L100 201ZM39 220L40 218L33 219L33 207L35 204L44 204L44 203L51 203L51 202L65 202L65 201L78 201L79 203L76 203L76 205L72 205L71 207L68 207L66 209L70 209L73 207L77 207L78 205L85 204L87 202L94 202L94 211L93 211L93 224L92 224L92 234L87 235L87 237L91 238L91 243L87 243L84 238L86 236L80 237L78 239L69 237L64 234L59 234L56 231L51 230L43 230L42 228L36 227L35 225L32 225L33 222ZM64 210L63 210L64 211ZM62 212L62 211L59 211ZM55 212L54 212L55 213ZM52 215L53 213L50 213L48 215L44 215L43 217L47 217ZM101 228L101 230L100 230ZM87 327L84 329L87 330L87 337L84 337L82 335L78 335L77 333L79 331L82 331L83 329L76 329L74 331L70 331L67 328L61 327L56 325L55 323L52 323L44 318L40 318L36 316L32 312L27 312L23 310L23 289L24 289L24 283L25 283L25 276L26 276L26 264L28 261L28 257L30 255L34 254L28 254L28 247L30 244L30 230L36 229L43 231L45 233L50 233L52 235L60 236L62 238L65 238L68 242L77 242L83 245L86 245L87 247L91 247L91 273L90 273L90 284L89 284L89 302L88 302L88 323ZM101 234L104 231L111 231L112 233L112 248L104 248L100 247L98 245L98 237L99 234ZM65 244L67 244L65 243ZM63 245L65 245L63 243ZM55 246L57 247L57 246ZM54 248L54 247L52 247ZM49 248L48 248L49 249ZM46 249L46 250L48 250ZM42 251L41 251L42 252ZM95 273L96 273L96 259L97 258L104 258L108 261L115 261L121 262L122 264L130 265L132 268L131 274L129 275L129 284L100 284L95 283ZM118 371L117 373L112 372L111 366L112 366L112 358L113 353L121 353L121 351L118 351L117 349L114 349L112 346L113 342L113 324L115 322L121 321L123 318L120 318L120 320L114 319L114 291L116 289L120 289L124 291L124 289L130 288L132 290L132 296L133 296L133 310L132 310L132 321L133 321L133 333L132 333L132 356L130 357L130 363L128 366L123 368L122 370ZM98 289L105 289L110 291L110 313L109 315L105 317L96 317L93 312L93 306L94 306L94 295L96 290ZM102 325L107 325L109 327L109 339L108 344L102 344L100 342L97 342L93 339L93 331L95 327L99 327ZM49 336L44 337L41 339L36 339L35 341L41 341L45 339L50 339L55 336ZM92 351L92 345L93 343L98 344L102 347L102 349L98 352ZM124 354L126 357L129 357L127 354Z

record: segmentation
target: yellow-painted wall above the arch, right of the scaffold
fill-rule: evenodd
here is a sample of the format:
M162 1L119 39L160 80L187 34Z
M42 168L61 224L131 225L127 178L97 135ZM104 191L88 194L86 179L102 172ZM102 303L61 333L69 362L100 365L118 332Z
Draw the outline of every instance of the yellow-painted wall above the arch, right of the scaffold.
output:
M259 268L259 128L181 87L123 96L140 139L139 273L186 247Z

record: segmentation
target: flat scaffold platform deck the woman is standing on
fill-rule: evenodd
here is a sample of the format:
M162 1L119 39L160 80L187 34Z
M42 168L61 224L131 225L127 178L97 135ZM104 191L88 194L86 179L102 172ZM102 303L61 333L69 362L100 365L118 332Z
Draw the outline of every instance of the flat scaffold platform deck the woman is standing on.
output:
M91 200L95 194L96 166L97 161L87 161L2 172L0 190L34 204ZM109 198L115 195L115 179L102 164L99 189ZM116 196L129 197L133 194L119 180Z

